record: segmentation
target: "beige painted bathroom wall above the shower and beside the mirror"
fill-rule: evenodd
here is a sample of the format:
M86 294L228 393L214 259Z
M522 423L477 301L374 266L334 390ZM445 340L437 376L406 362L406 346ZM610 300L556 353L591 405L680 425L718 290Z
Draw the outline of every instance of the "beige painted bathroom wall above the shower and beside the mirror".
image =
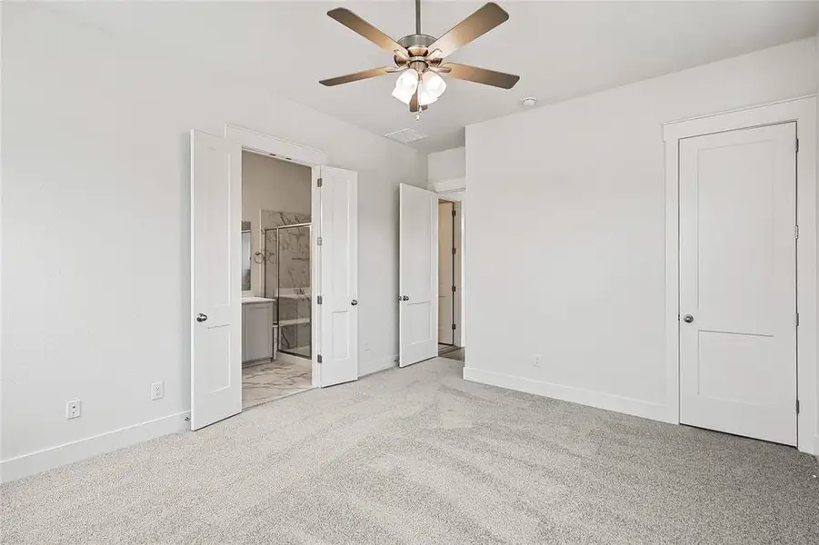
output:
M250 222L251 255L262 248L261 211L310 215L312 182L313 172L308 166L251 152L242 153L242 220ZM250 281L257 297L265 296L264 274L264 265L254 260Z

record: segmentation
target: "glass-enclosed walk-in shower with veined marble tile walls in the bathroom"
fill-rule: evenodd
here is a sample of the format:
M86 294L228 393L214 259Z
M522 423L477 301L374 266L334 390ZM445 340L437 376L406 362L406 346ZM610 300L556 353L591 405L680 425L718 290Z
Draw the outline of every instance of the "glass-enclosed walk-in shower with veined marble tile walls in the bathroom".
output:
M279 352L311 358L310 223L265 229L265 297L275 299Z

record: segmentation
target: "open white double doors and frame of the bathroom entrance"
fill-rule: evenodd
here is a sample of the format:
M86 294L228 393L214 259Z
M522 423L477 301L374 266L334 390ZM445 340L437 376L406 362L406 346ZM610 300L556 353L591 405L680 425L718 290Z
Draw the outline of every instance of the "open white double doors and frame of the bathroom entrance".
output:
M191 429L242 411L242 362L268 350L279 313L264 292L246 290L246 269L262 267L264 230L243 223L243 153L304 165L310 172L309 362L311 386L358 379L358 174L326 166L326 154L233 125L224 137L191 131ZM285 227L285 225L275 225ZM246 228L245 228L246 227ZM304 227L304 225L301 225ZM247 242L247 233L250 243ZM258 236L254 236L258 233ZM245 239L245 240L243 240ZM258 240L254 250L254 239ZM251 249L251 263L243 250ZM284 253L284 251L283 251ZM259 263L254 262L256 258ZM263 276L260 274L258 279ZM250 273L252 282L253 274ZM297 286L288 286L296 290ZM304 289L304 288L302 288ZM307 295L306 292L293 292ZM258 301L245 302L245 299ZM248 310L243 310L247 307ZM243 314L258 313L243 328ZM314 320L315 317L315 320ZM300 317L297 317L298 321ZM297 323L296 325L304 325ZM295 349L304 350L296 334ZM263 352L264 354L265 352ZM271 352L272 353L272 352ZM286 355L299 358L303 354ZM284 357L284 356L282 356ZM264 360L264 358L261 358Z

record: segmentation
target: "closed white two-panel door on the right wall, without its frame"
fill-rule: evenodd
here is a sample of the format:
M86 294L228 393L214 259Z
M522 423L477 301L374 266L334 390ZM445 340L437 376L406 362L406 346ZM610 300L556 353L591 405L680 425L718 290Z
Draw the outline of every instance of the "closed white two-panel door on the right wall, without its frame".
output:
M796 444L795 124L680 141L680 421Z

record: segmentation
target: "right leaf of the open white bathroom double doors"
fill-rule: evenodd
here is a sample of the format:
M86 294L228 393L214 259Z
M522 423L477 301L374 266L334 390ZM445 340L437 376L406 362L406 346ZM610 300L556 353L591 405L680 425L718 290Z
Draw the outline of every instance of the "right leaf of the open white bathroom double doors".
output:
M358 174L321 167L322 386L358 379Z

